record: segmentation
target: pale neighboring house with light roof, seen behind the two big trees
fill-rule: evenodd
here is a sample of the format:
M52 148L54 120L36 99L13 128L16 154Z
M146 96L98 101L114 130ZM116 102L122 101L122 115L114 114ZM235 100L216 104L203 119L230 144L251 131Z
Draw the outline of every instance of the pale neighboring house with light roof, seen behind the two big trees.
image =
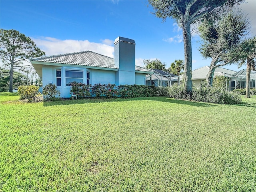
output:
M203 84L206 82L206 76L210 70L209 66L204 66L199 69L192 71L192 83L193 86L196 88L200 88ZM214 71L214 77L216 76L230 76L232 74L236 73L236 71L225 69L222 67L217 67ZM180 80L182 80L183 74L180 75Z

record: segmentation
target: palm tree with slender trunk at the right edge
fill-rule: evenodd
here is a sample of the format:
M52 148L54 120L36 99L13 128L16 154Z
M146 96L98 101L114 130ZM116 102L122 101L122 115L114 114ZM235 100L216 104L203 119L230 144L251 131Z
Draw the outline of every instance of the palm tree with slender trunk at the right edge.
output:
M241 44L242 59L239 64L241 67L246 63L246 97L250 98L250 74L251 70L256 69L256 36L244 40Z

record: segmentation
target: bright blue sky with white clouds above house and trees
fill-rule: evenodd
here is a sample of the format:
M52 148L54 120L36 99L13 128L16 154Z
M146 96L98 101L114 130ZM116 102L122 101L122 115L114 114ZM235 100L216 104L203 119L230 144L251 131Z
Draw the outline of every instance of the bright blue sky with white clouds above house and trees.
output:
M252 20L256 35L256 1L243 9ZM175 59L184 60L182 30L172 19L162 22L151 12L148 1L4 1L0 2L0 26L29 36L46 55L91 50L114 57L118 36L136 42L136 64L158 58L169 67ZM199 36L192 38L192 70L210 65L198 52ZM238 71L236 65L225 66ZM245 66L244 66L245 68Z

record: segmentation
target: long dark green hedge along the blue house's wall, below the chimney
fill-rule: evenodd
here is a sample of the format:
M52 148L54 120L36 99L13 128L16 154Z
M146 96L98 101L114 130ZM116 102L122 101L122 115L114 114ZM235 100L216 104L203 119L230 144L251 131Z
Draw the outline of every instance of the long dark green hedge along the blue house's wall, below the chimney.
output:
M94 84L87 85L77 82L71 83L70 94L78 98L107 97L107 98L135 98L167 96L167 88L146 85L118 85Z

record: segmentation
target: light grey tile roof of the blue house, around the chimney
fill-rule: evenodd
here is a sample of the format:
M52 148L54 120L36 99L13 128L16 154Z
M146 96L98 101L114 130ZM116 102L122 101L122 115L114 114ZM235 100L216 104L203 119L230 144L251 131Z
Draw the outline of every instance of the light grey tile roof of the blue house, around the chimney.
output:
M118 67L114 64L114 58L104 56L102 54L98 54L92 51L82 51L82 52L75 52L75 53L43 56L38 58L32 58L30 60L39 61L39 62L118 69ZM140 66L135 66L135 70L142 71L142 72L152 72L151 70L140 67Z

